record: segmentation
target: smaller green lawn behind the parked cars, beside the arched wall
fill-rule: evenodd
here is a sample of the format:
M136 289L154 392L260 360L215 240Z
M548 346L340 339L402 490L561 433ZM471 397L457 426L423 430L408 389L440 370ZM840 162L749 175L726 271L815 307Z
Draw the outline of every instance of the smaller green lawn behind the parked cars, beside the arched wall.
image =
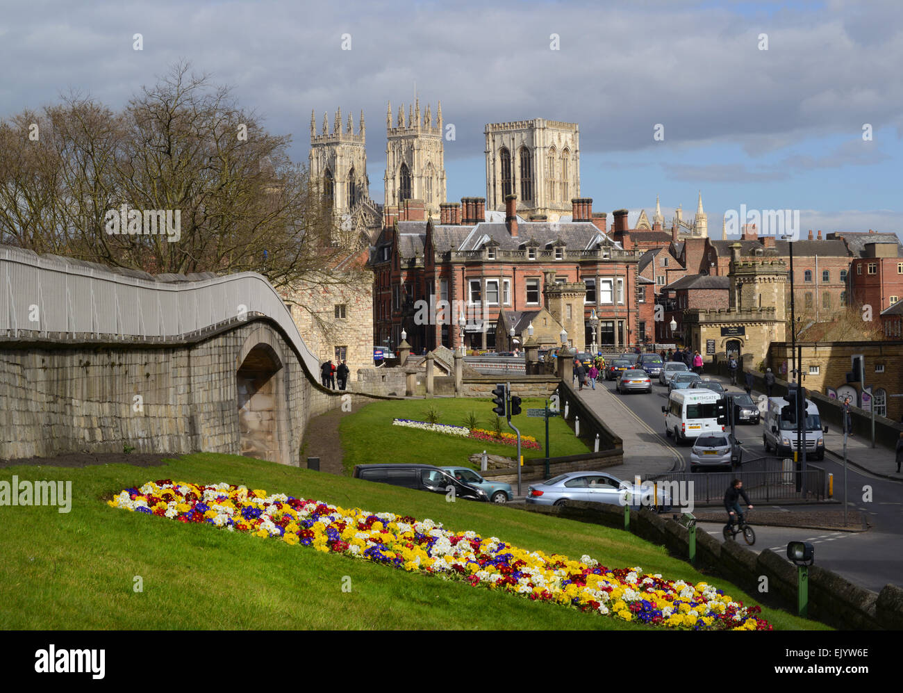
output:
M542 418L528 418L527 408L543 408L545 399L524 399L523 414L513 419L521 435L532 435L539 443L539 450L522 448L524 459L545 457L545 422ZM340 433L343 463L346 473L355 464L404 462L416 464L470 464L468 457L486 450L489 454L502 454L511 459L517 455L514 445L488 443L459 438L415 428L392 426L395 418L426 421L426 412L435 407L440 424L465 426L465 418L473 412L479 419L479 428L494 429L490 423L495 417L490 398L433 398L405 399L391 402L375 402L362 407L354 414L342 417ZM503 420L502 431L514 433ZM549 419L550 454L559 457L568 454L591 452L586 442L573 435L573 430L561 416Z

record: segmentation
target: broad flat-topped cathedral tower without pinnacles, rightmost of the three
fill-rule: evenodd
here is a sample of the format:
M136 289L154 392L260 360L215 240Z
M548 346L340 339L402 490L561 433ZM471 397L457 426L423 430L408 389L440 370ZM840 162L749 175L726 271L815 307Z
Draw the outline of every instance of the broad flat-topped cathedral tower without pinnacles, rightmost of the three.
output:
M580 197L580 127L543 118L487 125L487 209L504 210L509 194L523 216L570 214Z

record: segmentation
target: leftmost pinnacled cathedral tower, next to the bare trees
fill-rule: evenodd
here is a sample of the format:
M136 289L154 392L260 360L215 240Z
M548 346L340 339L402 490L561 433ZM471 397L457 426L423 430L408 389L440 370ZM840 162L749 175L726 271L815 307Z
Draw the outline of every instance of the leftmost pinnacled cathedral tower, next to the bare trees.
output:
M336 109L332 131L328 132L328 128L329 120L324 113L318 135L316 120L311 111L310 171L312 179L319 181L322 194L332 200L333 211L342 217L354 211L359 202L370 198L364 112L360 112L357 135L354 133L350 113L343 130L340 108Z

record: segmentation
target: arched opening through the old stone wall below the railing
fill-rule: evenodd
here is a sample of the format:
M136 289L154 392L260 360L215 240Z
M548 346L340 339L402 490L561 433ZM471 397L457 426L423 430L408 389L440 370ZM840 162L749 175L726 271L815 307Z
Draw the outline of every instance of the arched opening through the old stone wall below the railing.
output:
M238 452L290 464L283 360L269 343L248 340L246 344L236 371Z

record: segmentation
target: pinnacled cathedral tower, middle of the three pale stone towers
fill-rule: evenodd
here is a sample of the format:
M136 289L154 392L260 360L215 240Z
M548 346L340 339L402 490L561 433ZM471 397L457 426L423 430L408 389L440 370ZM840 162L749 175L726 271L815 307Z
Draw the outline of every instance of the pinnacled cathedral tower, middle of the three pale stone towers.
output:
M386 207L405 200L423 200L427 216L439 218L439 205L445 201L445 153L442 148L442 102L436 117L429 106L421 114L420 99L405 108L398 107L392 125L392 104L386 109Z

